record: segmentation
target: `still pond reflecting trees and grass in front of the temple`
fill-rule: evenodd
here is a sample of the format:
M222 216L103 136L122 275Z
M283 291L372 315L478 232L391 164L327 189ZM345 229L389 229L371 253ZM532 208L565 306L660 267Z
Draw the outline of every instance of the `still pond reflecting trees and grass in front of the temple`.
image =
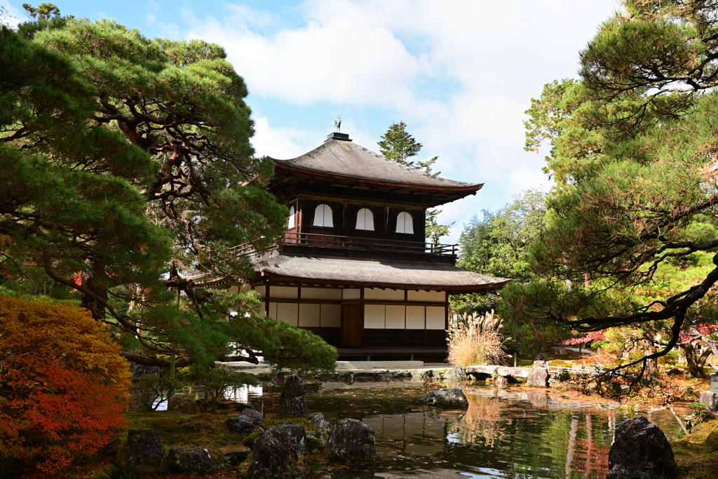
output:
M579 402L568 393L510 388L464 388L467 411L424 406L437 383L305 383L309 413L332 423L351 417L374 429L371 468L340 468L313 478L604 478L613 430L624 418L615 405ZM268 416L281 387L239 390ZM682 411L679 411L681 414ZM678 425L670 412L649 415L666 434Z

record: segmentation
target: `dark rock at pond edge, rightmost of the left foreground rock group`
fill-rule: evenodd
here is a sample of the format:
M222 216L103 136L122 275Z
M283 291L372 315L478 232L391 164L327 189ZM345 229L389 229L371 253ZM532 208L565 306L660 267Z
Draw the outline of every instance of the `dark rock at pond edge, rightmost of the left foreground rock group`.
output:
M334 461L364 462L376 456L374 429L357 419L340 419L327 441L327 456Z

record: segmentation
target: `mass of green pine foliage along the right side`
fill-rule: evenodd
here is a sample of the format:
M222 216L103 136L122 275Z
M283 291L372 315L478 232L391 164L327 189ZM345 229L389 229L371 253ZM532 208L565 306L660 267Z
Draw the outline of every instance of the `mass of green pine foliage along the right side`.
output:
M500 313L640 326L649 361L708 321L696 304L718 280L718 17L710 1L623 3L582 52L582 80L546 85L527 112L526 147L549 141L556 186L528 251L541 281L510 284Z

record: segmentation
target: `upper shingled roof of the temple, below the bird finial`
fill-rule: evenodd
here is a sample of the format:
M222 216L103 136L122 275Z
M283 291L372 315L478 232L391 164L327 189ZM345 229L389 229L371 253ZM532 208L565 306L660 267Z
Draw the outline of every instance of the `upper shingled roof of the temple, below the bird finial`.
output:
M274 161L289 169L296 168L325 175L363 178L401 185L472 190L472 192L476 192L483 185L426 175L346 140L327 139L320 147L301 157L274 159Z

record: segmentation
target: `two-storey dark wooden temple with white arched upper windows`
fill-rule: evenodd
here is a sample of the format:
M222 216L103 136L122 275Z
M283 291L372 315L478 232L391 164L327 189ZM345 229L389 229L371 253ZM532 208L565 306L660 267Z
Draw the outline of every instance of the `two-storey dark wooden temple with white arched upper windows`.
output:
M320 335L340 358L445 357L449 294L509 282L457 268L456 245L424 239L427 208L482 184L406 168L342 133L274 162L269 189L289 207L288 227L253 256L251 287L264 315Z

